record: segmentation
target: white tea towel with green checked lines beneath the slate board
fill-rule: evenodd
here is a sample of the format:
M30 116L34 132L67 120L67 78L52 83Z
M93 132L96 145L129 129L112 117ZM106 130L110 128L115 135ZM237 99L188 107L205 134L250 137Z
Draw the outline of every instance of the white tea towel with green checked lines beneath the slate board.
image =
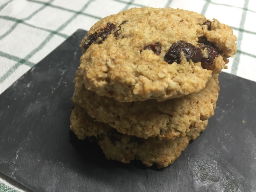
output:
M0 0L0 93L77 29L146 6L191 10L228 24L238 52L223 71L256 82L256 0ZM22 191L12 184L0 175L0 192Z

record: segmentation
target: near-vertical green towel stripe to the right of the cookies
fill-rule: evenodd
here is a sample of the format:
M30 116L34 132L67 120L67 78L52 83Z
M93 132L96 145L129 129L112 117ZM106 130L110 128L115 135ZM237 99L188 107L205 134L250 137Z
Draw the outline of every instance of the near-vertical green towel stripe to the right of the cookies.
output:
M249 3L249 0L244 1L244 10L242 12L242 17L241 17L240 26L239 26L240 29L244 28L244 22L246 20L246 14L247 14L246 9L248 8L248 3ZM236 47L238 50L241 49L242 39L243 39L243 32L238 31L238 36L237 36L237 41L236 41ZM241 52L237 52L234 56L234 61L233 61L232 67L231 67L231 73L234 75L236 75L237 70L238 70L238 65L240 62L240 55L241 55Z

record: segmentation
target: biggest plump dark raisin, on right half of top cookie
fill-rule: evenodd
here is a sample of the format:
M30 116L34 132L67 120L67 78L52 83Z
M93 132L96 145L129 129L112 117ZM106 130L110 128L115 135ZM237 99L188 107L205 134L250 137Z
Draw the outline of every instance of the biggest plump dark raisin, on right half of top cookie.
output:
M165 54L164 59L168 64L172 64L173 62L180 64L181 52L184 53L187 60L191 59L194 63L199 62L202 58L200 48L192 45L191 43L180 40L172 44L168 52Z

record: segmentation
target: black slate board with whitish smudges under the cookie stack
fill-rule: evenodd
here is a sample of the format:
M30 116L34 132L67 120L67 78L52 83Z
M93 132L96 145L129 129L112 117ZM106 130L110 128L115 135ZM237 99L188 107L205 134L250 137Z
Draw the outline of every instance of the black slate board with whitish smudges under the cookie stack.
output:
M0 172L36 192L256 191L256 83L220 75L215 115L167 168L106 160L69 130L78 30L0 95Z

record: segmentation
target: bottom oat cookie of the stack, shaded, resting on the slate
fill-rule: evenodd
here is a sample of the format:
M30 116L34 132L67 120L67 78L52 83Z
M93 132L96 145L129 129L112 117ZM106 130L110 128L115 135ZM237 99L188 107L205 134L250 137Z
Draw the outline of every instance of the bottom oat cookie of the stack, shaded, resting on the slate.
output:
M102 148L107 159L129 163L131 160L141 160L146 166L157 164L163 168L172 164L186 148L189 141L196 139L208 123L202 121L183 138L174 140L159 140L158 138L137 138L121 134L108 124L95 121L85 109L75 106L71 117L71 130L79 139L94 137Z

